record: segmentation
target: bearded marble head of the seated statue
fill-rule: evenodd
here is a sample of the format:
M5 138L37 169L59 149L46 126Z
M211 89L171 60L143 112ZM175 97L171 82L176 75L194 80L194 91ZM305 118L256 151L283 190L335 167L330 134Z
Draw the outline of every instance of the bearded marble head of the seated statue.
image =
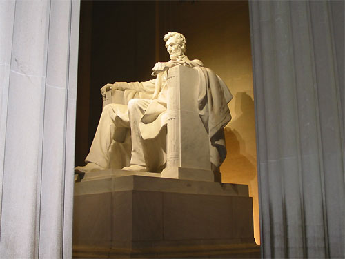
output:
M166 42L166 50L168 50L171 60L176 60L186 53L186 38L181 33L168 32L163 39Z

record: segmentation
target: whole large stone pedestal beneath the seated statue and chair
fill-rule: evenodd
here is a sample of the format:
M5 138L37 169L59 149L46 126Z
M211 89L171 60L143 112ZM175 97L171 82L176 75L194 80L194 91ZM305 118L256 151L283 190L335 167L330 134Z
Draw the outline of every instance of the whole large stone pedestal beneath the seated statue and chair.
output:
M75 183L73 258L259 258L247 185L118 171Z

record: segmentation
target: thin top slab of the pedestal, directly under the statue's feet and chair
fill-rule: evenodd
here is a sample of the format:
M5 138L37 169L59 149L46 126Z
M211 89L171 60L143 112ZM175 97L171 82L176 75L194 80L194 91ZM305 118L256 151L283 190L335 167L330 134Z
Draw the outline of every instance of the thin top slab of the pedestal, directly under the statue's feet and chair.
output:
M140 191L248 197L248 185L169 179L161 178L157 173L124 170L86 173L85 179L75 183L75 195L128 191L133 188Z

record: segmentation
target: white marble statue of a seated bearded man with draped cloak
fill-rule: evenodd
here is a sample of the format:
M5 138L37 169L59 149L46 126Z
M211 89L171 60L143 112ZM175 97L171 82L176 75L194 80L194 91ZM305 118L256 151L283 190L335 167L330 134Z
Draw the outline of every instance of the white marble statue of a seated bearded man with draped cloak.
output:
M231 119L228 102L233 96L217 74L204 68L201 61L188 59L185 55L184 35L168 32L164 41L170 61L155 64L152 68L152 76L157 76L155 79L146 82L108 83L101 88L103 96L108 91L129 92L126 95L128 103L109 103L103 107L95 138L86 157L86 165L76 167L76 172L113 168L161 172L164 169L168 71L177 65L193 68L199 74L199 81L195 82L197 109L209 138L210 164L213 170L219 168L226 156L224 127ZM132 96L135 98L130 99Z

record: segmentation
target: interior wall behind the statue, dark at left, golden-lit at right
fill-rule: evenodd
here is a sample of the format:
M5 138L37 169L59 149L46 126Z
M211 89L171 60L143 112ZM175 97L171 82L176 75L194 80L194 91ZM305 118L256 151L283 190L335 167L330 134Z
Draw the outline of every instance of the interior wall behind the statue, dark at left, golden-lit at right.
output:
M90 33L90 49L83 48L88 42L80 41L76 165L83 165L95 134L101 114L101 86L151 79L155 62L168 61L164 34L181 32L186 36L187 56L200 59L215 71L234 96L229 103L233 119L225 129L228 156L221 166L222 179L249 186L255 241L259 243L248 1L82 1L81 9L90 3L92 11L86 19L92 19L92 26L81 19L80 29ZM87 55L90 70L87 62L81 62ZM89 76L89 82L80 80L81 76ZM79 120L79 114L85 117L85 113L88 118Z

